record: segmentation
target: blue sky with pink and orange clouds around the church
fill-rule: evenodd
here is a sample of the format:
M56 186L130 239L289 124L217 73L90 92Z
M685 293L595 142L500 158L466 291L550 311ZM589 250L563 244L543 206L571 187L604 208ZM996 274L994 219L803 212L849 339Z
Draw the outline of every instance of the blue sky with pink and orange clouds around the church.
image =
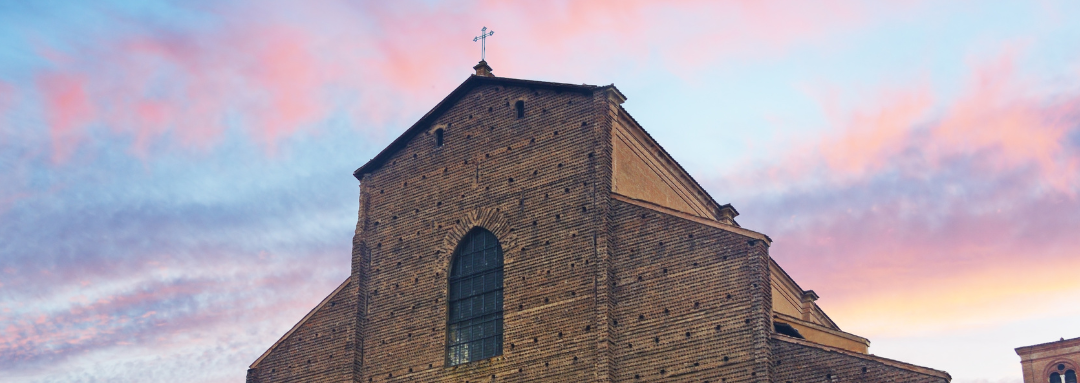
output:
M239 382L480 59L623 107L870 353L1080 337L1076 1L0 1L0 375Z

